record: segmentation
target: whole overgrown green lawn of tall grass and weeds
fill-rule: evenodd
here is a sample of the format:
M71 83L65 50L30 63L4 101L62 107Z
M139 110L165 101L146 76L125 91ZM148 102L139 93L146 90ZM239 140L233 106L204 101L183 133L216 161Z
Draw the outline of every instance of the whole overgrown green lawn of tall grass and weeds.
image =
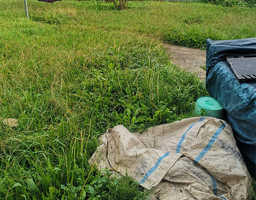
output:
M163 41L255 37L256 9L27 1L30 20L23 0L0 7L0 199L147 199L129 176L89 166L98 136L194 116L204 83L170 64Z

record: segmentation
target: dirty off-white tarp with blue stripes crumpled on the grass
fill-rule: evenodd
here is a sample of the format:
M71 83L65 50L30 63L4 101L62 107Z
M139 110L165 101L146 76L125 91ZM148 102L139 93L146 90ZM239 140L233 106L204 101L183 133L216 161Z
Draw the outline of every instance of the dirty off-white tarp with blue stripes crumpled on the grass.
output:
M152 199L250 199L251 177L231 127L213 117L183 119L142 133L122 125L109 128L90 163L153 187Z

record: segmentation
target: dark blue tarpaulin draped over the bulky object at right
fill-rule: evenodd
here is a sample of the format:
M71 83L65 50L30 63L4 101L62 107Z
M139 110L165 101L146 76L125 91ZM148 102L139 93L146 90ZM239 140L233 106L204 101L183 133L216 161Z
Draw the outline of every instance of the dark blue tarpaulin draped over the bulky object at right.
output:
M226 54L255 54L256 38L212 41L207 39L206 89L226 110L237 145L249 171L255 176L256 83L238 83L226 62ZM255 58L256 69L256 58ZM231 149L229 149L232 152Z

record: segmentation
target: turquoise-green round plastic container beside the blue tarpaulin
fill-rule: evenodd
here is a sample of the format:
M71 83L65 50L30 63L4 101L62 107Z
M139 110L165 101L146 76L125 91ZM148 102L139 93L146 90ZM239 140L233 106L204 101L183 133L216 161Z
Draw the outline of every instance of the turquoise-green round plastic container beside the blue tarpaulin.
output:
M204 109L207 112L206 116L224 119L224 108L212 97L204 96L199 97L196 100L196 113L201 114L201 109Z

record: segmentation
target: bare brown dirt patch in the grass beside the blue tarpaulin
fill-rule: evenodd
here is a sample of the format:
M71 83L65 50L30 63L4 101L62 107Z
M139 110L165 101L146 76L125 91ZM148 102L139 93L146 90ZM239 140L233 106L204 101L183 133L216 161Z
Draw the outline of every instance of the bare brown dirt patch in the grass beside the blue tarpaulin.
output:
M189 47L179 47L176 45L164 44L172 63L183 70L188 70L198 75L202 80L205 80L206 51L201 49L193 49Z

